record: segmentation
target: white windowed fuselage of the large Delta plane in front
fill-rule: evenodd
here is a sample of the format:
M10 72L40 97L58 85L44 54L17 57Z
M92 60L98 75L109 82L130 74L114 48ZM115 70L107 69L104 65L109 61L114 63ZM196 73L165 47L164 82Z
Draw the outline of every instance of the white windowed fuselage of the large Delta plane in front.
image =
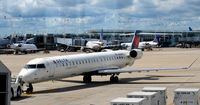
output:
M19 76L26 83L66 78L105 69L119 69L132 65L130 51L119 50L89 54L75 54L37 58L29 61Z

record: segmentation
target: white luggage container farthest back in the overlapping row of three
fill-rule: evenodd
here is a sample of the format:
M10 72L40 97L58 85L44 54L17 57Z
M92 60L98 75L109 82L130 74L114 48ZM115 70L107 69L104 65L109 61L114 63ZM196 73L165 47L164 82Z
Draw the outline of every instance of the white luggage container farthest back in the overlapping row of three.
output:
M167 88L166 87L144 87L143 92L157 92L159 105L166 105Z

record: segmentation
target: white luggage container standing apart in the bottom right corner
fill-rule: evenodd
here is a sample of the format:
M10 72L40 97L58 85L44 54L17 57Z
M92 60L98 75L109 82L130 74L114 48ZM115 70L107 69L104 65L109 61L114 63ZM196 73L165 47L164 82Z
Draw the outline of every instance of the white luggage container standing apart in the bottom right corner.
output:
M199 105L198 88L178 88L174 91L174 105Z

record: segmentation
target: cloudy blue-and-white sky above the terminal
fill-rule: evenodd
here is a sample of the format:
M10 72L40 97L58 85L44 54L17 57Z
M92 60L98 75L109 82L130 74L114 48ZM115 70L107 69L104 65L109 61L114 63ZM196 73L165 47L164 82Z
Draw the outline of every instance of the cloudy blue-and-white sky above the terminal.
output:
M200 0L0 0L0 34L200 29Z

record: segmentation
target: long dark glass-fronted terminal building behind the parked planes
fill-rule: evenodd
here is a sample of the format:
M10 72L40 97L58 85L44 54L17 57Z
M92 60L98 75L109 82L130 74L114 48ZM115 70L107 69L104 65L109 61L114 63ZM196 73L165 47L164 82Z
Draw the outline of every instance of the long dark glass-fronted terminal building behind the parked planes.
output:
M56 49L57 38L71 39L71 45L84 46L88 40L99 40L102 29L89 30L82 34L25 34L12 35L14 42L23 40L23 38L35 39L35 44L38 48ZM136 30L103 30L103 41L107 44L119 45L120 43L128 43L132 40ZM137 30L141 37L140 41L152 41L155 35L160 35L161 47L173 47L177 44L189 44L190 47L199 47L200 45L200 30L194 31L165 31L165 30ZM148 34L147 34L148 33Z

